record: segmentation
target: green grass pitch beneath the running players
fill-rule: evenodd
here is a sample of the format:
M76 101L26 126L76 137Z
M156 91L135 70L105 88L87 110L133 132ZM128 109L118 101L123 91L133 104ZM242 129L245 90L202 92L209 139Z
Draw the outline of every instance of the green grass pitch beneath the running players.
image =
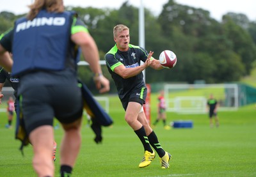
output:
M154 98L152 98L153 100ZM152 105L152 121L156 118ZM219 112L220 127L210 128L207 114L175 114L168 112L168 122L190 119L193 128L164 130L161 122L154 128L164 150L173 155L169 169L161 169L158 156L150 166L140 169L143 157L141 142L124 121L121 104L110 99L113 127L103 128L103 143L93 142L93 132L84 119L83 143L73 176L256 176L256 108L242 107L236 112ZM7 117L0 112L0 176L36 176L31 165L33 150L19 151L14 128L6 129ZM63 130L54 132L58 144ZM56 176L60 157L57 149Z

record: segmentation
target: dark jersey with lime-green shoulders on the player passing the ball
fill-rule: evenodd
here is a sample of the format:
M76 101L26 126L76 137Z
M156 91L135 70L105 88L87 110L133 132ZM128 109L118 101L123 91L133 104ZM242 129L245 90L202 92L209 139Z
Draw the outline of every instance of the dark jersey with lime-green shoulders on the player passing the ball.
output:
M114 72L115 68L120 65L124 65L125 68L135 68L140 66L140 62L145 62L148 57L147 50L129 44L129 50L122 52L117 49L116 45L109 50L106 54L106 65L108 67L111 77L115 81L116 89L118 90L118 96L122 100L127 94L133 89L146 88L145 82L143 81L143 73L139 73L134 77L123 79L120 75Z

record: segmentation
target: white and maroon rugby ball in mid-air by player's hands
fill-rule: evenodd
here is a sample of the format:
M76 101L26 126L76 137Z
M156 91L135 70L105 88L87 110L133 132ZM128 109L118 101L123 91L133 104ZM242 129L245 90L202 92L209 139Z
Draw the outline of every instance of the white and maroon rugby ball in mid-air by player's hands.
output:
M159 62L164 68L173 68L177 63L177 57L171 50L163 50L159 56Z

